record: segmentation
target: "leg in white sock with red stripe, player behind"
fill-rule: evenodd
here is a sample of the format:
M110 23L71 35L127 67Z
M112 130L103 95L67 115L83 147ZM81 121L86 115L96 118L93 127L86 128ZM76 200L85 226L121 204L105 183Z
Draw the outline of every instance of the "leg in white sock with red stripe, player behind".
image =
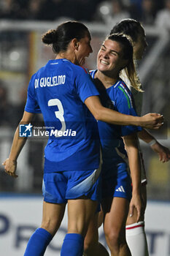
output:
M126 241L132 256L149 256L147 248L147 238L144 230L144 211L147 205L147 188L142 184L142 217L136 223L136 209L134 215L129 216L126 222ZM138 246L136 246L138 244Z

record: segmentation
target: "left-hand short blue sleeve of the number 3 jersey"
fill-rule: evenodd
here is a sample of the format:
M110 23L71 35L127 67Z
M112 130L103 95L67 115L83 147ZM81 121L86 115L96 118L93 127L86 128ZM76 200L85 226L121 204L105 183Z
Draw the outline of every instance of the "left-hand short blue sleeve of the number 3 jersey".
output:
M34 76L32 76L28 86L25 110L28 113L42 113L39 108L38 102L36 101L36 94L34 89Z

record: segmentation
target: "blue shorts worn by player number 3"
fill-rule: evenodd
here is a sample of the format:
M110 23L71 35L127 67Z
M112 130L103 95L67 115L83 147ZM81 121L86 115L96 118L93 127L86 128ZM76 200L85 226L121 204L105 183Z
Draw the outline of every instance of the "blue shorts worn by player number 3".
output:
M44 173L42 194L47 203L66 203L68 199L86 196L101 200L101 170Z

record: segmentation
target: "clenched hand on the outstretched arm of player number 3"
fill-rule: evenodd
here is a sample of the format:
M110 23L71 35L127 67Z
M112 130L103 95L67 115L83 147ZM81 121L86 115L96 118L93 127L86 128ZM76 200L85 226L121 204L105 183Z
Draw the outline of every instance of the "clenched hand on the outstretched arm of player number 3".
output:
M141 126L147 129L159 129L163 125L163 115L158 113L148 113L141 118Z

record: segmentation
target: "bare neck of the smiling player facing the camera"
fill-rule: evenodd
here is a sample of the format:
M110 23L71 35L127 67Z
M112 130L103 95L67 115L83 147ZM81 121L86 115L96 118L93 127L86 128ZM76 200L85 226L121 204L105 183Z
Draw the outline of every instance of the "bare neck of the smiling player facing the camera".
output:
M95 76L96 76L96 78L98 78L98 80L101 81L101 83L103 83L105 88L111 87L119 79L118 75L116 75L115 77L109 77L108 75L105 75L103 72L101 72L99 70L97 70Z

